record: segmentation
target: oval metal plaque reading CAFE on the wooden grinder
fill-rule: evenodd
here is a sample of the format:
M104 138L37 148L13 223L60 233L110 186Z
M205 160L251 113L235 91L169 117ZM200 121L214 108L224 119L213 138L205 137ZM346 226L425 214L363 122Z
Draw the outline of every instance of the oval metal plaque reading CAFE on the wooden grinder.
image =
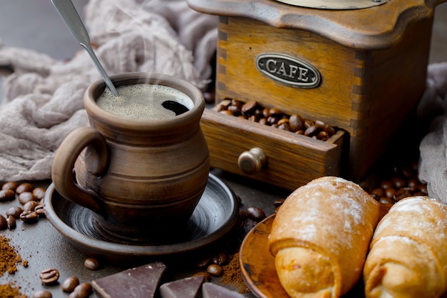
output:
M284 54L265 53L256 57L261 74L288 86L315 88L320 84L318 70L306 61Z

